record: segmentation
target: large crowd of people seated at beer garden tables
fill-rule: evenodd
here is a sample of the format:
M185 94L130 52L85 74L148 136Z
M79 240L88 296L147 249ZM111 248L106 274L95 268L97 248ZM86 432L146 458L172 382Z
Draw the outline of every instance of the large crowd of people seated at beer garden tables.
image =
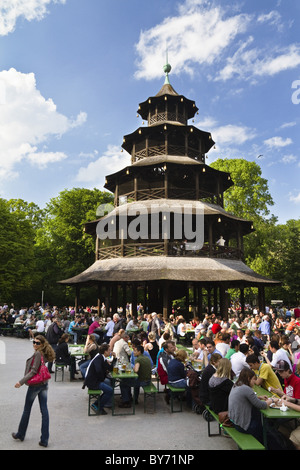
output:
M29 340L44 337L56 356L48 360L49 371L56 360L69 365L71 378L82 380L83 387L101 389L100 414L107 414L105 408L112 403L110 373L115 367L137 374L121 382L121 408L131 407L133 400L138 403L140 387L156 374L162 385L186 389L188 406L197 405L200 413L205 405L215 413L227 412L232 426L261 442L261 409L283 405L300 412L299 307L246 313L231 308L226 318L206 313L188 322L177 312L165 319L139 307L136 315L128 309L111 317L93 308L2 308L0 328L4 323L21 325ZM86 358L76 370L68 343L82 339ZM255 386L271 392L271 398L258 396ZM169 403L168 388L165 400ZM270 448L300 449L300 427L284 420L271 424Z

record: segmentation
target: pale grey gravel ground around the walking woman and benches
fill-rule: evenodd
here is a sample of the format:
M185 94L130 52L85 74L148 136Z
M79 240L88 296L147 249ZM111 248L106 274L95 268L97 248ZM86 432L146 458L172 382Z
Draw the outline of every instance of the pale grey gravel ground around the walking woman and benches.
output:
M28 339L0 338L1 450L102 450L105 451L101 453L103 459L106 456L114 459L104 463L128 463L134 467L137 466L135 461L116 461L116 456L121 459L127 455L131 459L133 455L147 455L147 458L153 455L155 459L157 454L167 452L173 455L173 460L169 458L168 462L161 463L178 464L189 463L176 461L180 455L196 458L202 450L236 450L230 438L208 437L206 421L185 404L182 413L171 413L163 393L157 397L156 413L144 413L141 391L134 416L111 416L108 412L106 416L89 417L87 389L82 389L81 381L70 382L69 371L65 372L63 382L55 382L54 374L49 382L50 439L47 449L38 445L41 427L38 400L32 408L25 440L15 441L11 433L18 429L27 387L16 389L14 385L23 377L26 359L32 351L32 342ZM142 454L142 451L146 453Z

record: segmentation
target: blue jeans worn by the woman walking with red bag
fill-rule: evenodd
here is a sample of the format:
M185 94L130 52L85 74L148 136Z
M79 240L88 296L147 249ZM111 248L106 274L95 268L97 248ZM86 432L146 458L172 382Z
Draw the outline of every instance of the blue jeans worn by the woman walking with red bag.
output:
M43 444L48 444L49 440L49 413L47 407L47 392L48 384L29 386L25 399L25 406L21 421L19 424L19 429L17 432L17 437L19 439L24 439L27 431L31 408L36 397L39 399L40 410L42 414L42 429L41 429L41 439L40 441Z

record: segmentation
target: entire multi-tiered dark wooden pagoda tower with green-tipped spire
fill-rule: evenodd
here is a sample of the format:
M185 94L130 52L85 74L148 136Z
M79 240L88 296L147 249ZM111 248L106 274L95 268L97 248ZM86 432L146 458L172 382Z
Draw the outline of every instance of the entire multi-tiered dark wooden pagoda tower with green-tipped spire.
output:
M104 187L114 194L114 209L101 221L113 220L116 237L100 240L99 219L87 223L85 232L95 237L95 262L59 283L76 287L77 305L80 288L95 285L98 305L105 302L106 311L113 313L118 298L123 311L129 301L133 312L139 299L149 313L156 311L167 317L172 301L185 297L186 312L192 304L201 316L205 305L209 311L213 306L215 312L226 316L227 289L240 289L243 309L245 287L258 288L259 308L263 310L264 288L279 283L244 263L243 237L254 230L253 224L224 209L223 194L234 182L230 174L206 165L206 154L214 146L212 135L189 124L198 108L174 90L170 71L167 64L161 90L139 105L138 116L148 125L124 136L122 147L131 155L131 165L106 177ZM176 203L182 206L188 202L194 207L201 204L204 216L204 243L192 249L186 249L184 238L175 239L171 232L166 238L162 230L161 207L169 208L175 217ZM141 204L152 212L157 210L160 230L155 240L150 236L151 224L146 236L123 236L122 217L129 223L128 214ZM223 246L217 243L221 236Z

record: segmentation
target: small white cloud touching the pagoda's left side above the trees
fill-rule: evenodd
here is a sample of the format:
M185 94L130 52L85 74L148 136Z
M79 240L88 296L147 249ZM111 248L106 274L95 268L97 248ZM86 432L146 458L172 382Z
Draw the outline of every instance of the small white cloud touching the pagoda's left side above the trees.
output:
M79 169L76 180L102 188L101 178L103 179L106 175L115 173L128 165L130 165L130 155L127 152L122 152L117 145L109 145L101 157Z

